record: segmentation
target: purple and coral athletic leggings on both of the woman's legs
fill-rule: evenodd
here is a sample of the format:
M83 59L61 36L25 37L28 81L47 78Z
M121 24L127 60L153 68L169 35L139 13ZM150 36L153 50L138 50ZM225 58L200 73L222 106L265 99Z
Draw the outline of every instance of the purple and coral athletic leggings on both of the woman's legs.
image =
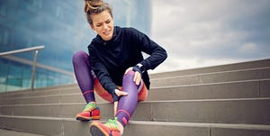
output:
M84 51L78 51L72 58L76 81L85 97L86 103L95 102L94 91L103 97L103 99L113 102L112 95L109 94L99 80L95 77L94 72L89 63L89 56ZM148 96L148 90L143 80L139 86L133 82L134 72L130 71L123 76L121 91L129 93L129 95L121 96L118 103L116 117L123 127L130 121L131 115L139 101L145 101Z

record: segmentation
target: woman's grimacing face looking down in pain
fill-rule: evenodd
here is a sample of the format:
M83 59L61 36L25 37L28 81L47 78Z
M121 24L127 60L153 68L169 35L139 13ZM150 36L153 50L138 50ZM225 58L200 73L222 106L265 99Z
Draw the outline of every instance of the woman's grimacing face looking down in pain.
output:
M104 41L110 41L113 35L113 19L108 10L100 14L92 14L92 29L100 35Z

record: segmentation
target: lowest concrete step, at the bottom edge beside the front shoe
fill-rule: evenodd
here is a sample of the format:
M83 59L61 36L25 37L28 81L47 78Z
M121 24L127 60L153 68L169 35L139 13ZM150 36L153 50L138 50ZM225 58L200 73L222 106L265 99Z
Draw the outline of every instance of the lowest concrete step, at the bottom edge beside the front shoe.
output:
M3 122L1 123L2 128L12 128L42 135L90 135L88 129L90 122L76 122L70 118L0 115L0 121ZM130 121L123 136L269 136L269 134L270 125Z

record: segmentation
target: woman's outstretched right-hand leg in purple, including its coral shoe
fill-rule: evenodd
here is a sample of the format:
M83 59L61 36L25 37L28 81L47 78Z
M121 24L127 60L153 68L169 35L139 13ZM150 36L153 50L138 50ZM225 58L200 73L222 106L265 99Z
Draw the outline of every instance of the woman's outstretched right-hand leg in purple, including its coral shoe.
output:
M140 85L136 86L133 82L134 72L130 71L124 75L122 82L122 91L128 92L129 95L121 96L116 118L109 120L109 122L92 122L90 124L90 132L92 135L112 135L120 136L123 132L123 128L130 121L131 115L137 107L139 101L146 100L148 96L147 87L141 80Z

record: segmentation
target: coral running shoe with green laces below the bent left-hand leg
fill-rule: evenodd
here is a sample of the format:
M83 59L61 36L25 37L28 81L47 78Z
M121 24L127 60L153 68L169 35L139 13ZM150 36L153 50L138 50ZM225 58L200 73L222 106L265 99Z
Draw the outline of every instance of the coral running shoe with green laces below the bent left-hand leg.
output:
M76 120L82 122L88 122L91 120L100 119L100 109L94 102L90 102L85 105L85 109L81 113L76 114Z

